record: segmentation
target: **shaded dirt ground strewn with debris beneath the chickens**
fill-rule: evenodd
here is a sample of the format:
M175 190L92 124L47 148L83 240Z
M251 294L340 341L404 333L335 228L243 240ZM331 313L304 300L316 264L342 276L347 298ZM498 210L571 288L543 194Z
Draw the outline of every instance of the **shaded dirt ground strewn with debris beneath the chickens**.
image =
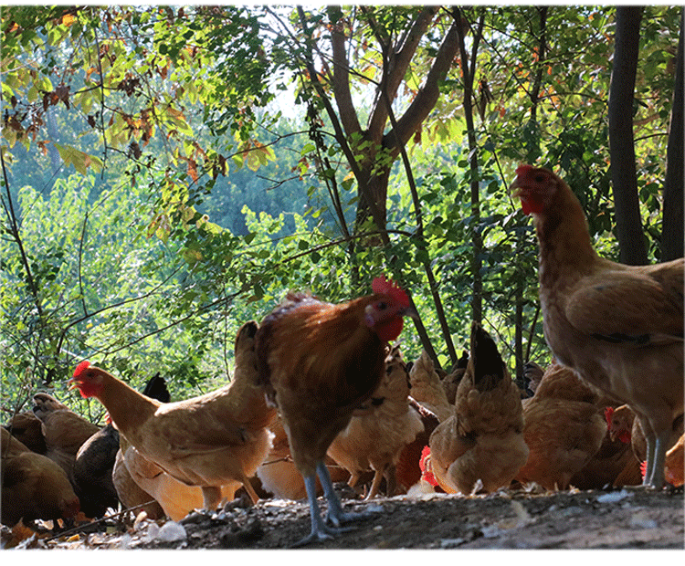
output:
M369 519L311 549L675 549L685 548L683 490L533 493L488 496L427 494L354 498L336 485L345 510ZM320 498L321 507L325 502ZM181 529L183 527L183 529ZM191 513L180 523L107 519L91 532L3 529L3 547L16 549L287 549L310 529L306 501L229 504L213 516ZM94 531L92 531L94 530ZM18 542L21 540L21 542Z

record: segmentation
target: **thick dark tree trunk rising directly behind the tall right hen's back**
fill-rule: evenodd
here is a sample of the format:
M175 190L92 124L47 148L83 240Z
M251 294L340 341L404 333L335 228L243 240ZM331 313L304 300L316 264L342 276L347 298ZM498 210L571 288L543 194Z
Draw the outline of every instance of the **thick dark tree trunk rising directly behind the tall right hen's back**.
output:
M614 68L611 71L608 108L610 172L620 261L632 266L648 263L639 213L633 141L633 93L641 19L642 6L617 7Z

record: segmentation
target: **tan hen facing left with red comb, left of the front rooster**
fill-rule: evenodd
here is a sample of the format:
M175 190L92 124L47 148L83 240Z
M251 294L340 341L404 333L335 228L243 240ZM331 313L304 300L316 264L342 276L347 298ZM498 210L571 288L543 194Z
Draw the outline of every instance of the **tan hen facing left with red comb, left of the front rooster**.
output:
M267 427L276 411L267 407L256 384L256 332L255 322L238 331L233 381L192 399L160 403L88 362L79 364L70 381L81 395L105 405L121 435L142 456L178 481L202 487L205 508L216 508L222 486L230 483L242 485L257 501L248 477L269 453Z

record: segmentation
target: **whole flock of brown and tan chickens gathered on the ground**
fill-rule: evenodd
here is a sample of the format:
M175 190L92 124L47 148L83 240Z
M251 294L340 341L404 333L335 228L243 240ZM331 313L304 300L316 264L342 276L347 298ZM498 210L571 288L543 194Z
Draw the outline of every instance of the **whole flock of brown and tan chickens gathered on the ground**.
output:
M368 516L345 512L333 482L366 499L681 486L682 258L598 257L577 198L545 169L522 165L511 190L534 218L552 354L526 364L527 391L476 323L452 372L426 351L405 362L396 341L416 311L386 278L341 304L290 293L238 330L233 378L216 391L172 402L159 374L140 393L80 362L69 383L104 406L102 427L37 393L2 430L2 523L70 525L119 505L180 520L243 493L306 498L302 546Z

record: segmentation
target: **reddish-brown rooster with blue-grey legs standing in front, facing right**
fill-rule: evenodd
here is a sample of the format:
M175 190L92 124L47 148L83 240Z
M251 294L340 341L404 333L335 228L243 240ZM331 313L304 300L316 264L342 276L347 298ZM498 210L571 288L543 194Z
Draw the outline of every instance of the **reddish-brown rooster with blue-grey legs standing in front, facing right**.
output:
M311 533L296 546L332 538L344 513L324 464L333 439L350 423L385 373L385 348L413 314L404 290L375 278L373 295L333 305L308 294L289 294L257 333L258 367L269 401L279 407L290 452L310 504ZM316 477L328 500L334 528L321 519Z

